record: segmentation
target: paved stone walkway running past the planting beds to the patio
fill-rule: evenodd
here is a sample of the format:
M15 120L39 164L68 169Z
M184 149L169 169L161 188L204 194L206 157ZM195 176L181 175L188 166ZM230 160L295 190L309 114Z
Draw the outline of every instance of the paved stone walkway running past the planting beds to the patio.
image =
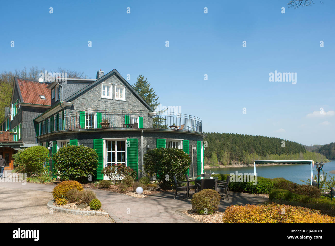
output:
M0 182L0 187L15 189L32 189L51 192L53 185L18 182ZM102 203L102 208L110 214L117 223L193 223L199 222L181 213L192 208L191 199L185 199L185 192L178 192L174 200L174 193L158 193L148 197L137 198L106 190L93 190ZM192 194L192 193L191 193ZM224 198L224 199L222 199ZM219 206L224 211L231 204L257 204L268 200L267 197L230 192L229 200L222 195Z

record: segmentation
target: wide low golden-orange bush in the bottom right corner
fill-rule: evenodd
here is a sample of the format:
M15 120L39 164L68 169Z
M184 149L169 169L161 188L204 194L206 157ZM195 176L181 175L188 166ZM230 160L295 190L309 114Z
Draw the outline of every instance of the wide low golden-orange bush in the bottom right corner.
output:
M265 205L229 206L223 213L224 223L335 223L335 218L320 211L270 203Z

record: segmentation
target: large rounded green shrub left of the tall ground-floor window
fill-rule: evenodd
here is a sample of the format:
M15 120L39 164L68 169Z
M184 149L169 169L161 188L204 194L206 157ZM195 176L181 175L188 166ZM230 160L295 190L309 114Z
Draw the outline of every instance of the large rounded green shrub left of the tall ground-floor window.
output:
M67 145L53 154L54 170L61 180L87 182L89 175L95 176L98 155L87 146Z

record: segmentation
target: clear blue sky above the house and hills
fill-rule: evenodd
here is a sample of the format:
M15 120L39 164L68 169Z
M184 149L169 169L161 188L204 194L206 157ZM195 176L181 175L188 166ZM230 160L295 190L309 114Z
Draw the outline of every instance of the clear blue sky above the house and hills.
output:
M162 105L200 117L205 132L331 143L335 1L288 1L13 1L0 9L0 71L117 69L130 84L142 74ZM275 70L296 84L269 82Z

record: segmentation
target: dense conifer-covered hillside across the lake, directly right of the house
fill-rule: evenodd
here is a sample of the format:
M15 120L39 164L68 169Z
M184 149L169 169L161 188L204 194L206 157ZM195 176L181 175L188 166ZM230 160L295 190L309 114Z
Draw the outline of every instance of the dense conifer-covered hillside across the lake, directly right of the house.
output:
M230 133L206 133L205 164L233 162L252 164L255 159L327 161L318 153L306 152L303 145L264 136ZM284 145L285 144L285 145Z

